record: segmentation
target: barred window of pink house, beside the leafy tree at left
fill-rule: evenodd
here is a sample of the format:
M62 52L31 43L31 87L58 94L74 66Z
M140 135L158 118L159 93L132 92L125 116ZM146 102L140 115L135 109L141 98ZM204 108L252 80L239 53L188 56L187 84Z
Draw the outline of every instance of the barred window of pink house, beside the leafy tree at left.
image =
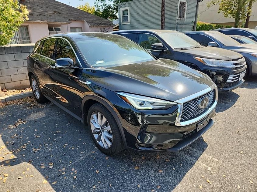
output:
M14 36L11 39L11 42L8 44L23 44L30 43L30 35L28 26L20 26L17 32L14 32Z

